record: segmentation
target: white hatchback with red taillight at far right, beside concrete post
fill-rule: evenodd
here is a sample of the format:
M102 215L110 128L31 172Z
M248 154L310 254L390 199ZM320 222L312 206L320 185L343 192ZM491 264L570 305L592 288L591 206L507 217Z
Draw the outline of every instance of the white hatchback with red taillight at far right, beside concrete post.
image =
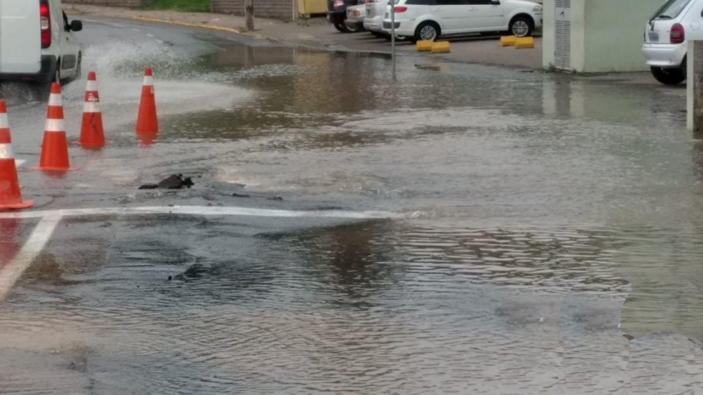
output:
M642 51L652 75L662 84L686 79L686 40L703 39L702 0L667 0L647 22Z

